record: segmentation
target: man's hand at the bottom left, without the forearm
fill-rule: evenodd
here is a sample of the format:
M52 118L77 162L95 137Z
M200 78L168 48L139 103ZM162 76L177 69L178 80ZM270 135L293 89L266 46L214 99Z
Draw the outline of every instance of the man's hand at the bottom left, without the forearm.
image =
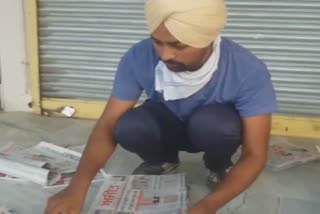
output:
M48 199L45 214L80 214L86 194L67 187Z

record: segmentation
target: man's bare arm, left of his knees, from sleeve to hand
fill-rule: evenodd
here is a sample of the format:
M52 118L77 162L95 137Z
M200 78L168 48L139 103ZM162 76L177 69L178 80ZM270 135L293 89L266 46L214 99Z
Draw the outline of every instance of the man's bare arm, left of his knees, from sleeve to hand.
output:
M136 103L137 101L109 99L104 113L91 133L89 143L82 155L71 185L49 198L45 214L80 214L90 181L115 150L116 144L113 139L115 124ZM83 188L83 186L86 188Z

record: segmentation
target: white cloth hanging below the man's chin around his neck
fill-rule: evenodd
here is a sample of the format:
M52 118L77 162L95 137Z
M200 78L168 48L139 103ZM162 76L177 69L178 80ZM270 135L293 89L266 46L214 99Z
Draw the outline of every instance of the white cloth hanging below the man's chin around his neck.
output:
M197 71L173 72L159 61L155 69L155 89L163 93L166 101L187 98L203 88L218 68L221 37L213 44L213 52L207 62Z

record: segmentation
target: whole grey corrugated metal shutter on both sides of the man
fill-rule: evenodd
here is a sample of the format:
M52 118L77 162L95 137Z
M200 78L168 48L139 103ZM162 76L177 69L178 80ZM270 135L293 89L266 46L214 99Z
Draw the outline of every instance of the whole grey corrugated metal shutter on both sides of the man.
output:
M38 0L44 97L105 100L122 54L148 36L143 0ZM272 72L281 113L320 115L320 1L226 0L224 35Z

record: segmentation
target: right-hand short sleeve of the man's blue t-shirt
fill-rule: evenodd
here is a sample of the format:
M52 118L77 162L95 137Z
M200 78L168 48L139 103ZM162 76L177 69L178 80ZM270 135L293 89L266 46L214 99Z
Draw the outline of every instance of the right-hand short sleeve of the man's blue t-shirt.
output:
M251 73L240 87L235 107L241 117L252 117L277 111L275 90L267 68Z

